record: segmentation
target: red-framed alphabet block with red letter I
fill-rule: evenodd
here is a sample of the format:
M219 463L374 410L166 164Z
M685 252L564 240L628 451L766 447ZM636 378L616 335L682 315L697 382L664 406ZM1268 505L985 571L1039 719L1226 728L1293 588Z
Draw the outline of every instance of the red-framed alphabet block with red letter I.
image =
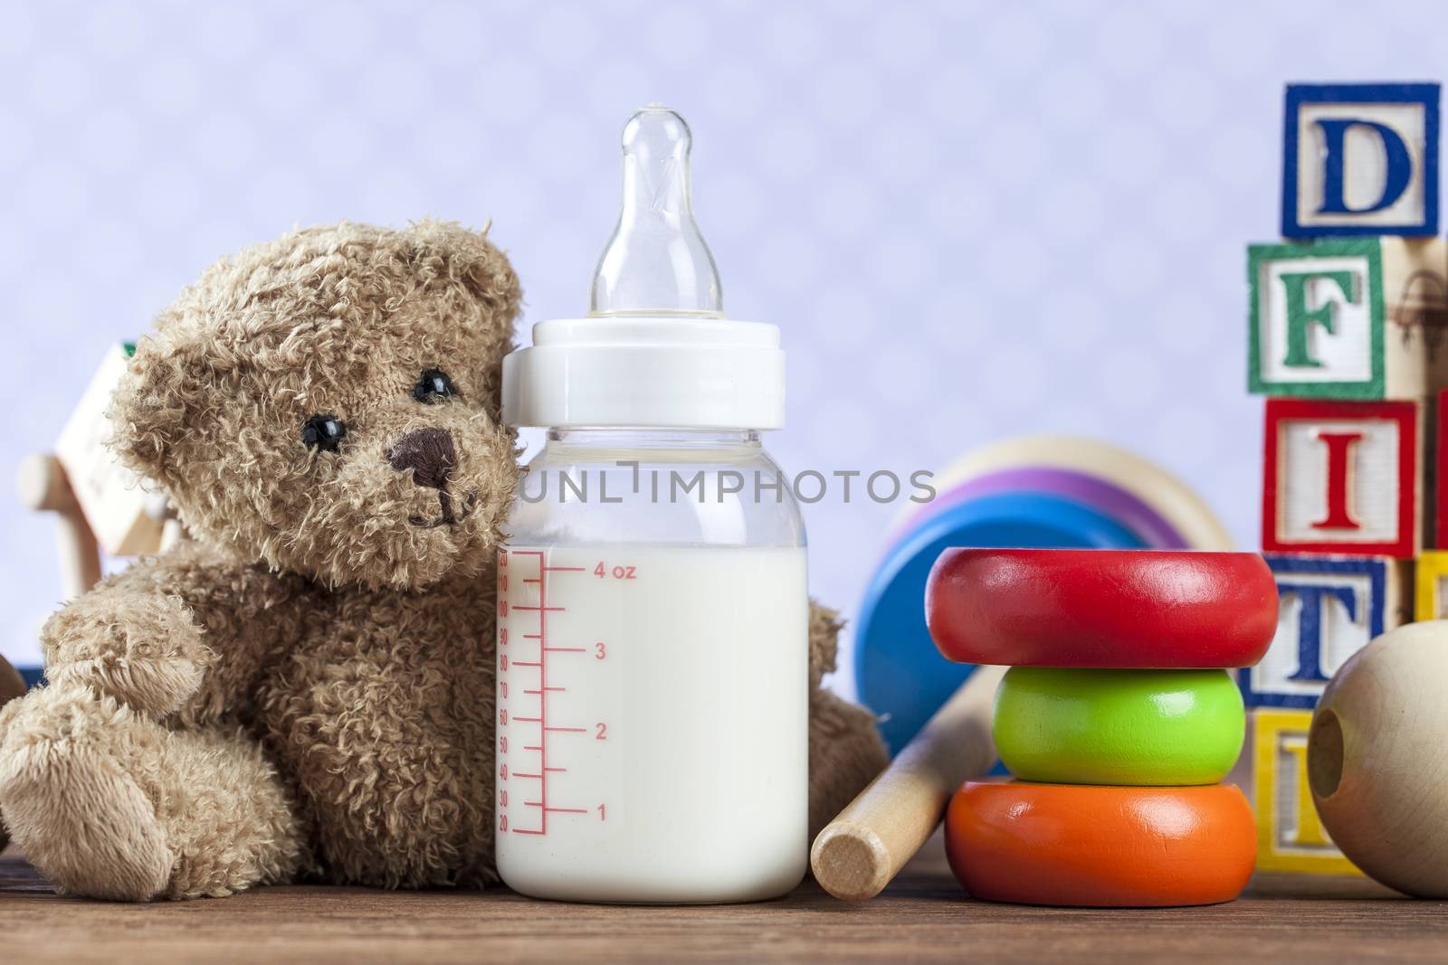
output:
M1419 415L1418 402L1267 399L1263 548L1416 556Z

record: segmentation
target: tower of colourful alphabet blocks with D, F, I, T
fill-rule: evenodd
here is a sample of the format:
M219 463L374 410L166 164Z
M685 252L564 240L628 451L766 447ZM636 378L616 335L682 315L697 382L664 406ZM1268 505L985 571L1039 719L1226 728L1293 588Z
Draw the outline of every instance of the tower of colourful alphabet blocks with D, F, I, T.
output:
M1418 619L1442 615L1448 556L1425 551L1448 545L1425 460L1448 388L1438 129L1438 84L1289 85L1290 242L1248 247L1248 389L1270 396L1261 545L1281 596L1266 658L1239 671L1266 871L1355 872L1313 806L1313 707L1412 619L1415 558Z

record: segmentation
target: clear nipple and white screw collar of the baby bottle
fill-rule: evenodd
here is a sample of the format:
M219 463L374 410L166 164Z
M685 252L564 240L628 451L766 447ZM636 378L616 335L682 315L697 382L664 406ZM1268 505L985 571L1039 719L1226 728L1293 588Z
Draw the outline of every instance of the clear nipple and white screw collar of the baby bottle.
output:
M513 425L782 428L779 328L724 317L689 200L689 126L650 104L624 124L624 198L586 318L533 326L502 360Z

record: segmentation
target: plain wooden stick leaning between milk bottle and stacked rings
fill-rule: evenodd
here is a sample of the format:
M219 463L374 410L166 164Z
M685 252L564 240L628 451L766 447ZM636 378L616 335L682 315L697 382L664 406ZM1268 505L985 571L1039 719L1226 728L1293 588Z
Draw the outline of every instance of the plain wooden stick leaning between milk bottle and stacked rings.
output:
M837 898L873 898L899 874L967 777L996 762L990 710L1005 667L979 667L809 849L820 885Z

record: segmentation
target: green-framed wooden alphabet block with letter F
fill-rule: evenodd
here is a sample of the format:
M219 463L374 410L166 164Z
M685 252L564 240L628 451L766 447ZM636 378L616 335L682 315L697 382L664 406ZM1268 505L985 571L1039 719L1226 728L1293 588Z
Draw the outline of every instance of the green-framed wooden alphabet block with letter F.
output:
M1448 242L1253 245L1247 388L1422 399L1448 388Z

